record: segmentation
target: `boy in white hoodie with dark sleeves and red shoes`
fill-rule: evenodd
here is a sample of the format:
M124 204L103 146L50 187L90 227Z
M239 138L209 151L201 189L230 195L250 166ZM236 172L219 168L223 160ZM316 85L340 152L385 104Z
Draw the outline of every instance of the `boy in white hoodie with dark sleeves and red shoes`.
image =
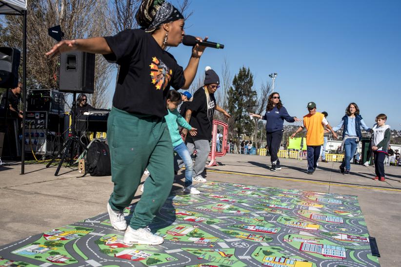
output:
M387 155L387 148L390 144L390 126L386 125L387 116L379 114L376 116L377 124L373 127L371 147L375 155L376 177L373 180L385 181L384 159Z

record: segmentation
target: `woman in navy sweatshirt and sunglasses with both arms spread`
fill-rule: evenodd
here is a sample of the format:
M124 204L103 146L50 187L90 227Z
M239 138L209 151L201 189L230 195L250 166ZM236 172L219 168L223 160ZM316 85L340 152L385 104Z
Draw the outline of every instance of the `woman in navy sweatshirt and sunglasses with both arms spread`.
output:
M262 116L259 114L250 114L251 116L266 120L266 141L270 153L270 161L272 166L270 171L276 172L281 170L280 160L277 156L279 152L282 133L284 132L284 120L287 122L301 121L297 117L292 117L281 103L280 94L275 92L269 95L267 100L266 113Z

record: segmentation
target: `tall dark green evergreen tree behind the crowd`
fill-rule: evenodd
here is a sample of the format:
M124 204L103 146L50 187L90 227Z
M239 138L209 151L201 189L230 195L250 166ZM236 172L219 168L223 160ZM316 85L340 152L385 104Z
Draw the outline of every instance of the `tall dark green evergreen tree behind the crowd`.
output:
M253 87L253 74L242 67L234 76L233 86L228 90L228 113L231 114L233 128L240 139L242 134L251 135L255 124L249 113L256 105L256 91Z

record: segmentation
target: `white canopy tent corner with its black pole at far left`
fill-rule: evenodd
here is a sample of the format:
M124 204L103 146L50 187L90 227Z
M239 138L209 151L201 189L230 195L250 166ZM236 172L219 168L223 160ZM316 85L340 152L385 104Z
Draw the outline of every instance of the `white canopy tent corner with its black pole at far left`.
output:
M0 0L0 15L23 16L23 38L22 38L22 136L25 136L25 114L26 114L26 3L27 0ZM21 174L25 170L25 143L21 142Z

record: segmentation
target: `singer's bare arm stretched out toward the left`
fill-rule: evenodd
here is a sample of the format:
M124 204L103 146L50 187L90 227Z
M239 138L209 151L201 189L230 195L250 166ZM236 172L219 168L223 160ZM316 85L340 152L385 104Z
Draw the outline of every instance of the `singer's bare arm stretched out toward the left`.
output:
M55 44L53 48L46 53L46 56L50 58L57 57L63 52L80 50L83 52L89 52L94 54L110 54L113 51L110 49L103 37L95 37L89 39L74 39L74 40L62 40Z

